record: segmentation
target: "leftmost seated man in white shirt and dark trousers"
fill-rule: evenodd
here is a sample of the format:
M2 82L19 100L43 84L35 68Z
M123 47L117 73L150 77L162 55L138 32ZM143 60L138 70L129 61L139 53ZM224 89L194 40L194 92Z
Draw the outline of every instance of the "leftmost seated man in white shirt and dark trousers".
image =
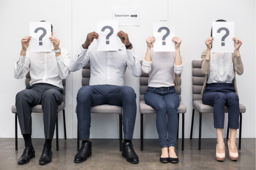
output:
M70 75L68 70L69 53L67 49L59 48L60 40L49 37L53 44L52 52L27 51L31 36L22 38L22 49L19 59L15 62L14 77L24 78L30 71L30 86L16 95L16 109L20 131L25 140L25 150L18 164L25 164L35 157L31 141L31 107L42 105L44 112L45 143L39 163L48 164L52 161L52 139L57 119L58 105L63 102L62 79Z

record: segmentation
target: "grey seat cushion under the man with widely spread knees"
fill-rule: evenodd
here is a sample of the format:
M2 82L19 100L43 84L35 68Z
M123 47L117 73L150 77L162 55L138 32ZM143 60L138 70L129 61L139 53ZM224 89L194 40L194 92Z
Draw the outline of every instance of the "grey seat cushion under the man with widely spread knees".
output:
M123 107L114 105L99 105L91 107L91 113L116 113L122 114Z

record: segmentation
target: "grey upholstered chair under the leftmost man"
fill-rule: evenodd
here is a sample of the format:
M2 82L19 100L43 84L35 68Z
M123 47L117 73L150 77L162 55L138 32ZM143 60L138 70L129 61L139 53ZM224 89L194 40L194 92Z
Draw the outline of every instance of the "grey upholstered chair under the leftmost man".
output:
M25 79L25 85L30 86L30 74L29 72L26 75ZM63 102L58 106L58 112L57 112L57 120L56 120L56 150L59 151L59 131L58 131L58 113L63 110L63 124L64 124L64 137L67 139L66 134L66 122L65 122L65 94L66 94L66 80L62 80L63 85ZM32 113L43 113L42 105L36 105L31 108ZM15 150L18 151L18 132L17 132L17 110L16 106L12 106L12 113L15 113Z

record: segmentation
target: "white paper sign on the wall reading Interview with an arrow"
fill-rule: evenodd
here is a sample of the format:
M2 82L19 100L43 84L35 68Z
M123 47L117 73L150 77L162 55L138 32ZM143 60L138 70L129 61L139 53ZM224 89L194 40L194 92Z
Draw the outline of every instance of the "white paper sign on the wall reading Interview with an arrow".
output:
M118 26L139 26L139 7L113 7L113 20L118 20Z

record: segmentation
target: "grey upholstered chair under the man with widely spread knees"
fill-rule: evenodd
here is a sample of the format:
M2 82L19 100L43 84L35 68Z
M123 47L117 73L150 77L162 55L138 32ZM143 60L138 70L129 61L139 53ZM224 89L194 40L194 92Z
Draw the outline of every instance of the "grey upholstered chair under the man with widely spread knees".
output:
M83 67L82 70L82 86L89 86L91 76L90 64ZM76 110L75 110L76 111ZM116 113L119 114L119 147L121 151L121 143L123 140L123 124L122 124L123 107L113 105L99 105L91 107L91 113ZM77 128L77 151L79 151L79 131Z

